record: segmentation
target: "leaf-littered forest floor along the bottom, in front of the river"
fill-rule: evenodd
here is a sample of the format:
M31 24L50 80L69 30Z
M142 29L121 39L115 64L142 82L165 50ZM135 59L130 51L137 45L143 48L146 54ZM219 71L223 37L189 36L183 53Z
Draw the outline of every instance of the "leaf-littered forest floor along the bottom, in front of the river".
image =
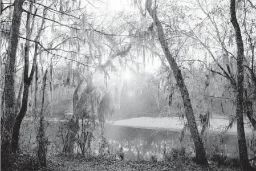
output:
M153 161L121 161L116 159L109 159L107 157L84 157L82 156L52 156L47 161L46 168L39 168L35 162L35 157L29 156L16 156L16 160L13 163L12 170L67 170L67 171L80 171L80 170L240 170L231 166L218 166L217 164L209 164L209 166L197 165L191 160L182 160L170 162L165 164L164 162Z

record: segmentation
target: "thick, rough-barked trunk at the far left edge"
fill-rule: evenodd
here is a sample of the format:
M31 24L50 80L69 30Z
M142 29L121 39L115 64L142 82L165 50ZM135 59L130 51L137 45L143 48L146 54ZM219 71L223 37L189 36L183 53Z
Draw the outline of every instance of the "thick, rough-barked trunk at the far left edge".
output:
M10 169L9 157L11 153L11 134L13 132L13 123L15 119L15 62L23 2L24 0L16 0L14 2L9 51L5 68L5 116L3 117L3 130L1 130L1 169L3 170Z

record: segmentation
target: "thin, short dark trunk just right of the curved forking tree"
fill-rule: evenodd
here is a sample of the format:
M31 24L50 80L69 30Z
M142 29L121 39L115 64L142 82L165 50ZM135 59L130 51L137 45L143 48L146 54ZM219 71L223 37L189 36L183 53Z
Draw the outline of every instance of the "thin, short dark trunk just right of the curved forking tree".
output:
M44 107L44 93L46 89L46 78L47 78L47 70L43 77L43 95L42 95L42 108L40 111L40 125L39 125L39 132L38 132L38 159L40 166L46 166L46 152L47 152L47 139L45 138L44 132L44 116L43 116L43 107Z

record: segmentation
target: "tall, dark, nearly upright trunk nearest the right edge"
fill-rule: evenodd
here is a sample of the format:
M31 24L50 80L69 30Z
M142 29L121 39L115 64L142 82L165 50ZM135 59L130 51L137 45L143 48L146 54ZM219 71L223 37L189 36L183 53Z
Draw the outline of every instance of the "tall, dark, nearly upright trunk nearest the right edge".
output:
M235 0L230 0L230 17L231 23L235 30L237 41L237 138L239 149L239 160L244 169L250 168L247 146L245 139L245 128L243 123L243 40L241 30L235 14Z

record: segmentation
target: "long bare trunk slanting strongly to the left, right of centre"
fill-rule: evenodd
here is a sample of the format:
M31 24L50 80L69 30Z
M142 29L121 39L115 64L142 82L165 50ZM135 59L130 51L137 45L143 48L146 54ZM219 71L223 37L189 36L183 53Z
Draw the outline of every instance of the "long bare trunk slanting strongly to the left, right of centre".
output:
M182 100L185 108L186 119L188 120L190 133L192 135L194 146L196 149L196 161L201 164L208 164L208 161L206 158L206 152L204 149L204 144L202 143L202 140L200 138L200 135L197 129L196 119L194 117L194 112L193 112L192 104L190 102L188 89L186 88L184 79L182 78L181 71L177 66L176 60L173 58L172 54L170 54L168 42L166 41L162 25L159 21L159 18L157 18L155 9L152 9L151 7L152 1L148 0L146 6L147 6L149 15L151 15L153 21L155 22L162 50L164 51L165 57L168 60L170 67L172 68L174 77L176 79L178 87L180 88L180 92L181 92L181 96L182 96Z

